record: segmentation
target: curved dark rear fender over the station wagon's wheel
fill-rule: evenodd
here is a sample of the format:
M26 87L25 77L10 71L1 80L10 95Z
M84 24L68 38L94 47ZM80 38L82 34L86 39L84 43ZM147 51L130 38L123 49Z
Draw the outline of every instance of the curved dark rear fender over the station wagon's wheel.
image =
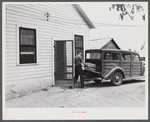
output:
M114 67L114 68L110 69L108 72L106 72L103 75L103 79L112 80L112 78L116 72L121 72L123 75L123 79L125 79L124 70L120 66Z

